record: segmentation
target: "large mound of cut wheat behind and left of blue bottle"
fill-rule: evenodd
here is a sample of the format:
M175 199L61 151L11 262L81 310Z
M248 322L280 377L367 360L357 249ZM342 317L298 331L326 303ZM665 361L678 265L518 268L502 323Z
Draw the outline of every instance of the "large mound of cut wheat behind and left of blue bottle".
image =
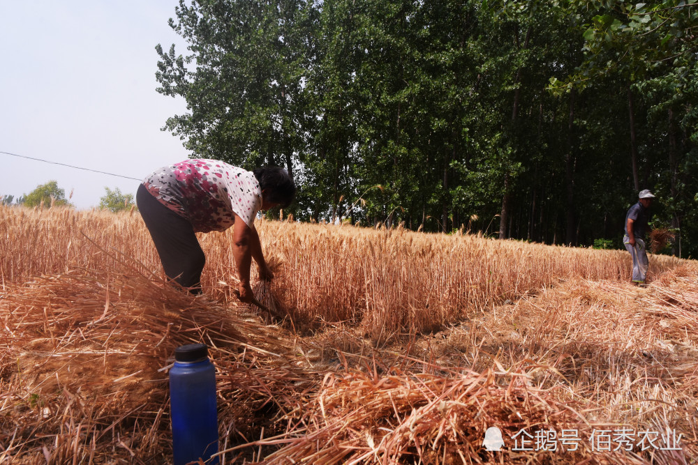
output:
M279 328L135 268L45 275L0 294L0 462L168 463L168 367L204 342L224 443L276 432L313 379Z

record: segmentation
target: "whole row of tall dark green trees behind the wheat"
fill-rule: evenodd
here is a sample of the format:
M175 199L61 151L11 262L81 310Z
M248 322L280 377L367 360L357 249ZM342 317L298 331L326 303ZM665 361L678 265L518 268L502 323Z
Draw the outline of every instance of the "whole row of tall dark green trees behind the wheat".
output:
M285 165L297 218L618 243L637 190L698 253L697 7L676 0L181 1L166 129ZM678 243L675 247L678 253Z

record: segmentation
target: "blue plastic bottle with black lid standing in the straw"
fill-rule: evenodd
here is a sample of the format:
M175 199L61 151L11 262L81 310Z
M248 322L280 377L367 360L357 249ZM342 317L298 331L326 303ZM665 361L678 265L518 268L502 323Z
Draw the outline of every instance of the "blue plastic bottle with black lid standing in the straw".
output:
M174 350L170 369L170 416L174 465L206 461L218 452L216 372L205 344ZM218 457L207 464L218 464Z

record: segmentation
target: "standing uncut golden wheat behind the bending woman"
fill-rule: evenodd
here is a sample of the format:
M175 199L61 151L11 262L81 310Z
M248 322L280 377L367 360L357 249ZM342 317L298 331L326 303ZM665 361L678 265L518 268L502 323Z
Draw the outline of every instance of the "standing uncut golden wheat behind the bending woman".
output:
M156 252L138 213L113 215L69 209L1 209L1 282L23 282L41 273L114 266L92 243L117 256L133 257L161 273ZM328 224L258 222L265 253L281 259L276 299L293 321L359 324L373 340L438 330L474 312L513 300L560 279L624 280L627 252L551 247L478 236L376 231ZM213 298L235 302L237 275L232 232L200 236L207 255L202 277ZM653 273L680 260L652 257Z

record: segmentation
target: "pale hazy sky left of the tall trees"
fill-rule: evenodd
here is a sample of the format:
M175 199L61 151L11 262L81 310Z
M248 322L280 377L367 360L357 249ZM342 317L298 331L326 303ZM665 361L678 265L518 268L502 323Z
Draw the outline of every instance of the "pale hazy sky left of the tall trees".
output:
M163 132L184 100L156 92L160 43L186 44L170 26L177 0L0 0L0 151L142 179L188 158ZM0 196L57 181L77 208L105 186L139 181L0 153Z

